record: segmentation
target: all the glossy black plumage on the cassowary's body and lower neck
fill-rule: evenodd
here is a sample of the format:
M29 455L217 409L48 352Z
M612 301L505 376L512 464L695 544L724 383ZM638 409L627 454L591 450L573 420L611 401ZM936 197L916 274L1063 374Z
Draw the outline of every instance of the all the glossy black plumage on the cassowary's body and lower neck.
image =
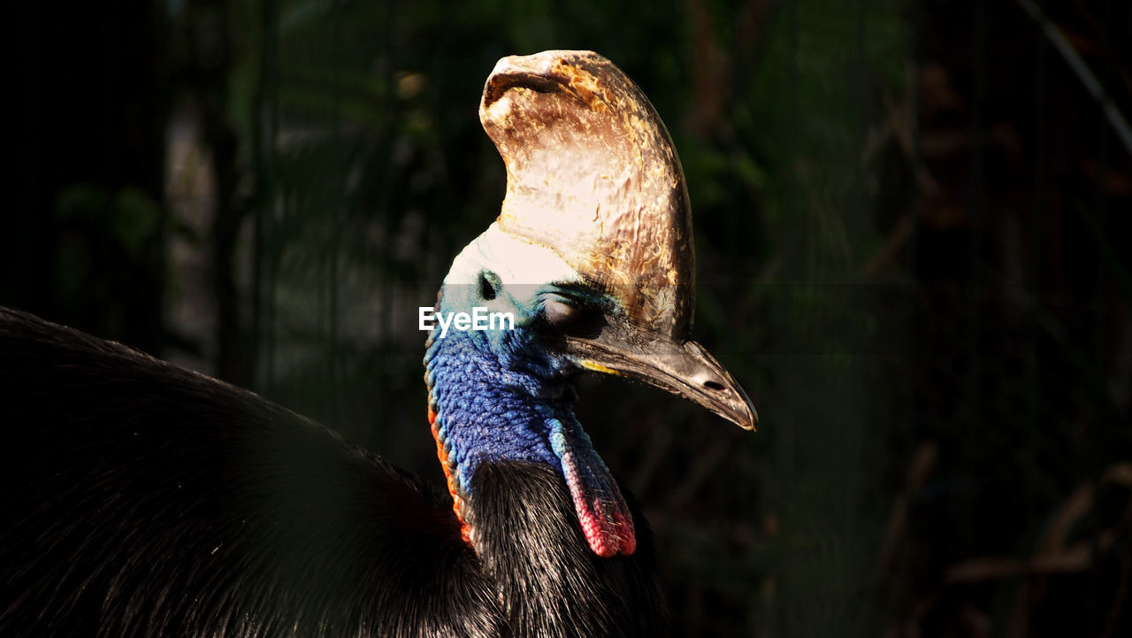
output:
M655 636L653 548L588 547L560 475L447 496L256 394L0 308L0 636Z

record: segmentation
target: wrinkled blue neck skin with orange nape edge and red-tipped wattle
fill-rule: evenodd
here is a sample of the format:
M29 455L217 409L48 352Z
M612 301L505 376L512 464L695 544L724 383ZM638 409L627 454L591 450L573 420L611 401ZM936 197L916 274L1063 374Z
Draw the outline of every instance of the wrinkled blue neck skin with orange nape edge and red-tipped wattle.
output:
M443 304L441 304L443 306ZM475 486L483 462L543 463L563 476L577 524L599 556L632 554L633 514L574 416L568 371L535 348L530 329L432 332L424 356L432 432L465 538L475 543Z

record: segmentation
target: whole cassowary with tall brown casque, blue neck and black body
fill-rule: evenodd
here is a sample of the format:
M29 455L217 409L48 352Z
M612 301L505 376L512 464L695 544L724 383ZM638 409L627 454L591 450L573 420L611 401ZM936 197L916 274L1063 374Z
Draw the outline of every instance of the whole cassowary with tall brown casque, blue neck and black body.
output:
M436 315L512 322L428 339L451 499L256 394L0 311L0 636L666 633L655 548L572 381L643 381L754 427L688 339L679 161L590 52L500 60L480 117L507 194Z

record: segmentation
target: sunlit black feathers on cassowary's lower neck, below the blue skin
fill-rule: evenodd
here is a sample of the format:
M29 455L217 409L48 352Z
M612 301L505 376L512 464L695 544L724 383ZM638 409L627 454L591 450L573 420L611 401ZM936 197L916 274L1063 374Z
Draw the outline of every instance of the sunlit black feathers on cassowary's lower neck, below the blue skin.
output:
M484 463L475 473L477 542L518 636L663 636L652 534L632 500L637 547L590 551L561 475L537 463ZM483 513L479 513L483 512Z

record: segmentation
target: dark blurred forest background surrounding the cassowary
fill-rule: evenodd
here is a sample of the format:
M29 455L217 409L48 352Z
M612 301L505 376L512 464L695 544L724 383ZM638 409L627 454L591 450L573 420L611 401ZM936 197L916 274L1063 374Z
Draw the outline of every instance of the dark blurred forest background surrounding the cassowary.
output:
M592 49L687 173L739 432L586 380L678 635L1132 636L1132 5L19 2L0 303L441 476L423 334L506 54Z

